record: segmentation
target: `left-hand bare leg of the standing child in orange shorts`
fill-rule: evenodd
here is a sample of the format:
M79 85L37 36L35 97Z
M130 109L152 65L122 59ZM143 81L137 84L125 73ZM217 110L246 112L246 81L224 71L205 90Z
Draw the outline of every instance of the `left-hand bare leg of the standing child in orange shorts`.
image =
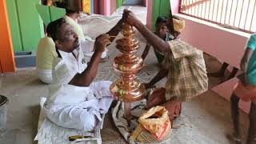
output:
M238 111L238 102L239 98L234 93L231 95L230 98L230 108L231 108L231 116L233 120L234 125L234 135L233 140L237 142L238 144L241 143L241 136L240 136L240 130L239 130L239 111Z

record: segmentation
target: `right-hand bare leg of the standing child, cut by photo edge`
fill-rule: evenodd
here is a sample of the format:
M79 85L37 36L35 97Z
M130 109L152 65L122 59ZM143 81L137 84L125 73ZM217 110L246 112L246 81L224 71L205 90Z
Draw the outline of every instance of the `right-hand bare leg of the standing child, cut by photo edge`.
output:
M250 126L248 130L248 137L246 144L255 144L256 143L256 104L251 103L250 106Z

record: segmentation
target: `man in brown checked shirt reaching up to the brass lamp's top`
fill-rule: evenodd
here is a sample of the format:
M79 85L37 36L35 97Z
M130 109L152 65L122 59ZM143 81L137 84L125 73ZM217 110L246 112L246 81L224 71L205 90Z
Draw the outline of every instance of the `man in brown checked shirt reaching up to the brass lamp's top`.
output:
M166 87L155 90L150 95L147 108L165 106L170 120L173 120L180 113L182 102L202 94L208 88L203 52L178 39L168 42L162 40L129 10L124 10L123 19L135 26L152 46L168 53L164 60L167 69L162 74L163 77L168 74Z

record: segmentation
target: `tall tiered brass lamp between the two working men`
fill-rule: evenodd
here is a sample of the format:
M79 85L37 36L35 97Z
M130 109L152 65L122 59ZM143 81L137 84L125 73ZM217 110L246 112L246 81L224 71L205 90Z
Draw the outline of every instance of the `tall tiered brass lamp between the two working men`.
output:
M145 86L138 81L135 74L142 69L143 59L135 55L139 48L138 40L134 39L134 28L126 22L122 24L123 38L117 40L117 48L122 54L114 58L114 70L120 74L110 86L110 91L124 102L125 116L130 123L130 102L140 100L145 92Z

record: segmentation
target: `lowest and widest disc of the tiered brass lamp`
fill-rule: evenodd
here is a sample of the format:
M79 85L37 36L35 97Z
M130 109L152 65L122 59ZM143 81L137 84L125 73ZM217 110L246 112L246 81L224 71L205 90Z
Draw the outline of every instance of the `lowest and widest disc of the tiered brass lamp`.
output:
M137 79L134 79L133 81L134 86L120 86L120 84L122 84L122 80L117 79L111 84L110 91L121 102L139 101L142 99L146 90L145 86L138 82Z

